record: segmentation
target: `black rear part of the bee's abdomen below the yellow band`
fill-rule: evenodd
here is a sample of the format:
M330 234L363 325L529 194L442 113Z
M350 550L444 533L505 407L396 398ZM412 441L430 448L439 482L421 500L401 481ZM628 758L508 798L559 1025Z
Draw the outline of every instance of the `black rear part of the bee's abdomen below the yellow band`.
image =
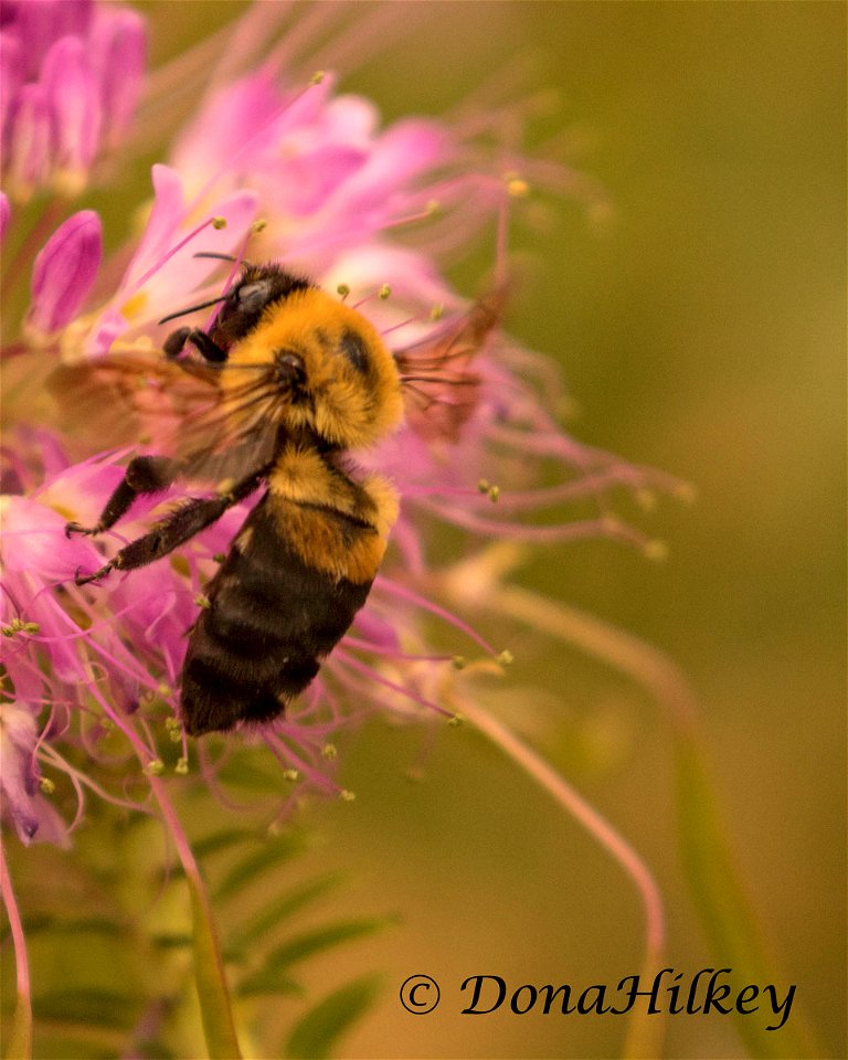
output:
M182 717L200 735L275 718L318 672L368 598L361 584L304 561L285 532L285 502L266 495L247 517L213 581L182 670ZM348 524L350 534L375 534ZM343 530L343 533L341 531Z

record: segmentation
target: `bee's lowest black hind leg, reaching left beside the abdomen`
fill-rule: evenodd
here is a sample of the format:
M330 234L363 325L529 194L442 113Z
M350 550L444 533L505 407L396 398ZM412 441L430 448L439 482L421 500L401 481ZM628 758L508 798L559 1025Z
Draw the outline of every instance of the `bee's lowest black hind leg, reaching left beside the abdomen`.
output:
M205 530L219 520L227 508L232 508L257 489L264 471L265 468L261 473L242 479L229 494L221 497L192 497L172 511L167 519L155 523L144 537L131 541L116 552L112 560L98 571L93 574L80 574L77 571L74 582L77 585L85 585L87 582L105 577L113 569L131 571L168 555L177 545L193 538L201 530Z

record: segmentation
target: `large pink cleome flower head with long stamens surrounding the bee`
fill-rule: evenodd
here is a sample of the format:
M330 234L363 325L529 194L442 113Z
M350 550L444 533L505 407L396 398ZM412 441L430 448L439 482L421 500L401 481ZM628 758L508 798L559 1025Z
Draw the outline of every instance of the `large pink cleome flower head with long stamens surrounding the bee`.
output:
M60 4L75 13L59 26L32 13L43 8L46 19L52 7L10 3L3 23L3 72L17 77L4 112L13 204L47 183L78 190L100 147L124 135L139 91L137 15ZM464 533L483 562L505 539L605 537L650 552L611 498L616 488L637 498L676 488L563 434L555 372L500 330L506 225L527 192L515 157L475 150L473 137L437 121L383 129L375 108L338 95L331 76L293 85L277 68L280 54L210 92L168 162L153 167L152 199L126 246L104 256L93 210L71 214L40 248L17 244L13 268L31 275L31 296L20 333L4 340L0 755L4 814L24 842L64 841L86 791L145 810L144 791L127 794L125 760L148 774L189 770L186 635L255 496L170 556L96 585L75 574L102 568L197 489L178 481L144 495L96 539L68 539L65 527L96 523L130 455L167 452L179 438L197 396L189 377L166 371L173 324L162 318L210 327L244 262L280 262L358 308L395 354L406 406L396 434L356 454L363 474L388 477L401 499L368 603L286 714L240 736L264 742L286 775L341 791L327 775L339 728L374 709L453 717L453 657L470 646L504 660L431 595L456 559L439 552L439 527ZM59 126L60 138L50 131ZM486 223L499 233L499 278L469 304L444 279L438 252L448 229L454 245ZM458 650L433 649L432 622ZM214 786L205 741L197 753ZM82 764L92 761L102 765L96 777ZM64 776L63 807L76 799L64 824L43 794L47 773Z

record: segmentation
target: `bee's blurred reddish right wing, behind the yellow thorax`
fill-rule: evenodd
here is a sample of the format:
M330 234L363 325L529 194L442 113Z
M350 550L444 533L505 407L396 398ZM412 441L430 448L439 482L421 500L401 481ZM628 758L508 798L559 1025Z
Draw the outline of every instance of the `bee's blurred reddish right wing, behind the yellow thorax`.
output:
M407 425L428 442L456 442L479 400L474 362L500 320L505 288L414 346L395 351Z

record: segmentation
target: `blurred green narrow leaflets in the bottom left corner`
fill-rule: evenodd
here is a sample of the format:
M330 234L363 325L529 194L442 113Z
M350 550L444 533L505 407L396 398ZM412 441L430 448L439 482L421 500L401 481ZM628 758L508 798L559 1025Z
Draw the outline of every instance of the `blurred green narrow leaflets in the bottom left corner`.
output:
M233 756L224 796L243 791L242 782L255 792L252 756ZM266 795L277 795L278 780L268 777ZM312 1003L300 969L393 919L316 919L314 907L341 880L303 875L298 862L310 844L301 828L268 829L244 813L227 814L211 806L202 788L188 795L187 808L193 810L194 849L214 895L214 930L224 940L243 1054L283 1056L289 1036L293 1056L307 1047L328 1054L368 1007L377 979L359 976ZM35 847L31 857L17 859L34 968L33 1056L193 1057L204 1040L202 1016L209 1054L234 1057L237 1046L225 1016L231 1003L220 996L211 967L210 924L192 909L195 889L190 883L187 890L163 848L161 826L93 803L75 839L72 858ZM2 942L10 945L7 936ZM6 1025L14 999L13 961L3 962L2 977Z

